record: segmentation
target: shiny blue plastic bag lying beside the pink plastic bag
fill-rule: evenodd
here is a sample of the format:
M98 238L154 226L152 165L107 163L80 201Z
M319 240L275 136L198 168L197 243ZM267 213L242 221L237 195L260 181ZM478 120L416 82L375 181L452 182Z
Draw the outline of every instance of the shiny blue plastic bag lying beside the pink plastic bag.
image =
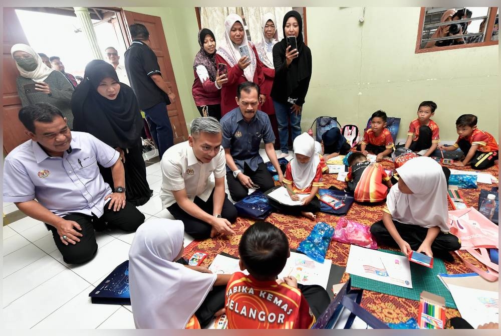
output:
M326 222L318 222L312 232L298 247L298 251L303 252L313 260L324 263L325 254L329 248L334 228Z

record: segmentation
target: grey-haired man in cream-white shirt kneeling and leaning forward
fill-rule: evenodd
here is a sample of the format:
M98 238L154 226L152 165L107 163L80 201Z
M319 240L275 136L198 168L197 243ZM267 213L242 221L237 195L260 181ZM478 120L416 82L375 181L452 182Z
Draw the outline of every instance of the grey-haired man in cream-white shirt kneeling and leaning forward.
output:
M162 205L183 221L184 231L197 240L234 234L231 223L237 213L224 192L226 160L221 141L217 119L195 118L188 141L167 149L160 163Z

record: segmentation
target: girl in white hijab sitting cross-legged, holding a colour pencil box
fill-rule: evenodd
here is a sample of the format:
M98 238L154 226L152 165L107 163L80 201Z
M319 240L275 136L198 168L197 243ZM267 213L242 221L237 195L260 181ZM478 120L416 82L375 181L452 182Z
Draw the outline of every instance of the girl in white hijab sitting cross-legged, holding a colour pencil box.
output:
M398 246L447 261L461 247L447 225L447 181L442 166L420 156L397 168L398 185L391 187L383 219L371 226L378 244Z

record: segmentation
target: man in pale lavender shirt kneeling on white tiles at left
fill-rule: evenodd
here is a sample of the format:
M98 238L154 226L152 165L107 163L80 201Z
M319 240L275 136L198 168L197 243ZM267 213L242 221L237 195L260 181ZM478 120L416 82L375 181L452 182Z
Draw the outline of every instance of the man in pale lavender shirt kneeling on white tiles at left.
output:
M22 108L19 119L31 139L5 158L4 202L46 223L66 263L94 257L97 224L135 231L144 222L125 200L118 151L91 134L70 131L61 111L47 103ZM114 191L98 163L111 167Z

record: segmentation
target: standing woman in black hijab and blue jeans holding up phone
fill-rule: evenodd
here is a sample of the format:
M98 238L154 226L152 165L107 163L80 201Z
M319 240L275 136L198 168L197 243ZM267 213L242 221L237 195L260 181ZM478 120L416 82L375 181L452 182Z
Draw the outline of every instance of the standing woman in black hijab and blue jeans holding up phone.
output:
M296 11L288 12L282 25L284 39L273 47L275 79L271 96L279 124L280 149L285 157L289 155L289 120L292 141L301 134L301 111L312 75L312 54L303 41L303 20ZM287 37L295 36L297 49L287 44Z

